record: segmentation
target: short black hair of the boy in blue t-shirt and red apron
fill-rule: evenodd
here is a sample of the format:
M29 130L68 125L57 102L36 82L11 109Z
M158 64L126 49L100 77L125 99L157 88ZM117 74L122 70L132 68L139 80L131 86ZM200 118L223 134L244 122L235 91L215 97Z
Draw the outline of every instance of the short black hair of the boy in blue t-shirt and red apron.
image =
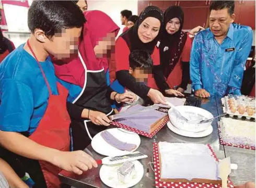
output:
M33 1L28 10L28 28L44 31L51 38L62 29L80 28L86 22L83 12L72 1Z

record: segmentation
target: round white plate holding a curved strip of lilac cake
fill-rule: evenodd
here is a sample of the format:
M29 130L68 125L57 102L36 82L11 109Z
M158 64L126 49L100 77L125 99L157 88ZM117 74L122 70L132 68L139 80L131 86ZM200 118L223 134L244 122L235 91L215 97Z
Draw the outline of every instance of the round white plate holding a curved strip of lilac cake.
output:
M108 129L109 133L111 133L114 137L116 137L118 140L122 142L127 142L131 144L136 144L137 147L133 149L132 152L134 152L139 144L141 144L141 138L138 136L138 134L131 134L126 133L123 131L118 130L118 128L114 129ZM104 156L122 156L130 154L131 152L128 151L122 151L120 149L117 149L110 144L108 144L100 135L101 132L96 134L94 138L91 141L91 146L94 149L95 152L104 155Z

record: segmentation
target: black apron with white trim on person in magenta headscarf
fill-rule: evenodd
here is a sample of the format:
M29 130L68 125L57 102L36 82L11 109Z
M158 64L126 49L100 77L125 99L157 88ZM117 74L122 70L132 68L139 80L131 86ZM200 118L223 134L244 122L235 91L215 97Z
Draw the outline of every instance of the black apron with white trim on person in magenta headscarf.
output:
M85 68L86 78L82 92L73 103L90 110L103 112L107 116L114 114L110 99L106 97L108 85L104 68L102 67L100 70L87 70L80 53L78 53L78 56ZM82 121L72 120L73 150L84 150L97 133L107 128L106 126L98 126L88 119Z

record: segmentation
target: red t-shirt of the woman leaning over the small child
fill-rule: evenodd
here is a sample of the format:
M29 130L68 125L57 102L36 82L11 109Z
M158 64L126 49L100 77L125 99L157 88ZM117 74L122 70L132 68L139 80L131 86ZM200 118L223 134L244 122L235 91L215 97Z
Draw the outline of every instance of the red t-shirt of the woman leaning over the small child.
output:
M130 49L125 40L122 37L119 37L118 40L115 42L115 71L120 70L129 70L130 63L129 63L129 55ZM159 49L155 46L154 52L151 55L153 60L153 65L160 65L160 55ZM148 76L148 84L147 86L158 89L155 79L152 75Z

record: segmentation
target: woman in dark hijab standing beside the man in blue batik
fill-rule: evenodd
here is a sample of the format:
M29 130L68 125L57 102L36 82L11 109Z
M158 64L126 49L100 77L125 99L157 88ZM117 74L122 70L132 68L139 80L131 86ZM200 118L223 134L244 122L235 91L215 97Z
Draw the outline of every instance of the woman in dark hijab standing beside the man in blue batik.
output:
M172 89L187 90L191 40L189 33L182 31L183 10L179 6L169 7L164 14L164 31L160 40L160 59L164 76Z

